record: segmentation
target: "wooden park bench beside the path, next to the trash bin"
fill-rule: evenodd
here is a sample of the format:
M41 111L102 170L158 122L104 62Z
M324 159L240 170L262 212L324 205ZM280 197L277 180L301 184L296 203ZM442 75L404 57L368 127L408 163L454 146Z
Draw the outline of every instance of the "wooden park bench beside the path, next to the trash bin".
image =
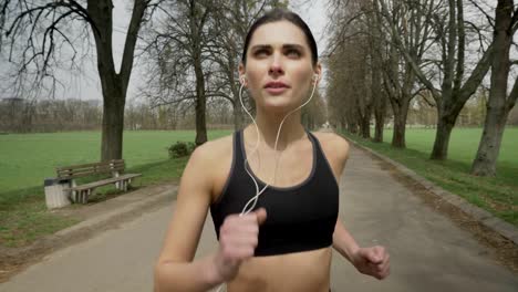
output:
M115 184L117 189L127 191L127 186L132 182L132 179L142 176L142 174L123 174L124 159L63 166L58 167L55 171L58 173L58 179L60 181L70 181L69 187L64 188L63 191L69 192L69 198L73 202L82 204L87 202L89 196L91 196L97 187ZM81 186L75 184L75 178L96 175L111 175L112 177Z

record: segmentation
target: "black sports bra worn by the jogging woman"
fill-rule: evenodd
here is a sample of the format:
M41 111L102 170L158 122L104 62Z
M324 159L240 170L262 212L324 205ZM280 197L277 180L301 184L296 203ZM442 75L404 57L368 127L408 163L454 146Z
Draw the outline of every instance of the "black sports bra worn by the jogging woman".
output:
M255 209L266 208L268 217L259 227L256 257L315 250L333 243L339 212L339 186L319 140L309 132L308 137L313 145L310 176L292 187L269 186L259 196ZM242 131L239 131L234 135L230 175L220 197L210 205L218 240L225 218L240 213L256 195L253 181L245 170L245 157ZM253 175L251 169L249 171ZM255 178L259 189L262 189L265 182Z

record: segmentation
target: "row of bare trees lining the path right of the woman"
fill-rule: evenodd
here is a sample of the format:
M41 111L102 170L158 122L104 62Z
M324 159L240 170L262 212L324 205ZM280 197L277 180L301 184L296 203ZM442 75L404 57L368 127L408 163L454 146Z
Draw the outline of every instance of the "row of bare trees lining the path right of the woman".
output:
M374 116L374 140L380 142L390 106L392 145L405 147L411 102L421 96L437 116L431 158L446 159L452 128L490 71L473 174L495 175L506 121L518 97L518 82L509 75L518 29L512 0L498 0L496 7L477 0L333 0L331 14L340 20L330 27L328 59L333 123L370 137Z

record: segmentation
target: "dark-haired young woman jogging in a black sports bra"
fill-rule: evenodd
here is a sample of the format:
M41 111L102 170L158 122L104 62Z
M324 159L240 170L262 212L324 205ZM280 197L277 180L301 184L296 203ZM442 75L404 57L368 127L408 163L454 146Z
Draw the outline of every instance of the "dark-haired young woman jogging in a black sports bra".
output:
M194 152L155 268L155 291L227 283L230 292L327 292L331 248L360 272L387 277L384 248L360 248L338 219L348 143L301 124L298 108L321 76L308 25L290 11L265 14L248 32L239 74L256 103L260 135L249 125ZM209 209L219 247L193 261Z

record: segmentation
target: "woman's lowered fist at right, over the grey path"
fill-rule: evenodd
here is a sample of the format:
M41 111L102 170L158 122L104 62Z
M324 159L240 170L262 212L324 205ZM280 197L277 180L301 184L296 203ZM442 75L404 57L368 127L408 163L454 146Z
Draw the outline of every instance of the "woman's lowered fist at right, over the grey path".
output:
M390 255L384 247L360 248L352 254L352 263L358 271L383 280L390 274Z

